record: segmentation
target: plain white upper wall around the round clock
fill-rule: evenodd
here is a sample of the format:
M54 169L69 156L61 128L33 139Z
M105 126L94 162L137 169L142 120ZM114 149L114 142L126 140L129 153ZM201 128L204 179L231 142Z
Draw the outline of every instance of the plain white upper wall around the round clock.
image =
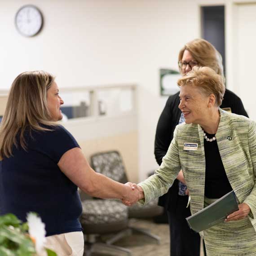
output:
M227 4L226 66L232 83L232 0L30 0L44 15L44 28L34 38L22 37L14 26L16 11L28 2L0 0L0 89L9 88L20 72L37 69L56 75L60 88L138 84L143 179L157 167L154 133L167 99L159 96L159 68L177 68L179 49L200 37L199 5L206 2Z

